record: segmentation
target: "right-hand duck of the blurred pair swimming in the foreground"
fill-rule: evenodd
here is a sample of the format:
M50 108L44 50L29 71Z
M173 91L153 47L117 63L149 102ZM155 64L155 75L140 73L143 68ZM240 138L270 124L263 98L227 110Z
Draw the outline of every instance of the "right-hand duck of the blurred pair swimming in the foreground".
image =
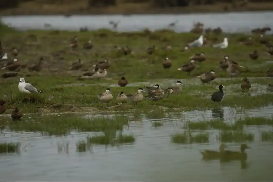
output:
M247 153L245 153L246 149L250 149L246 144L241 144L240 152L239 151L231 151L225 150L223 158L226 160L242 160L245 161L248 158Z

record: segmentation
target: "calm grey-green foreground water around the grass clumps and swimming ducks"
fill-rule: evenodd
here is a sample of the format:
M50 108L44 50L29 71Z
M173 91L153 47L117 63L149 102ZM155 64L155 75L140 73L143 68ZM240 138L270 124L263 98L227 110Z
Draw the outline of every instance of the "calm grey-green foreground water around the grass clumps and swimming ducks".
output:
M261 131L272 131L271 126L245 126L253 133L254 141L247 143L247 167L239 161L219 163L202 161L199 150L218 149L218 130L206 130L210 142L205 144L174 144L171 135L182 133L186 121L204 121L223 118L271 117L273 106L258 109L223 107L217 110L165 113L163 118L151 115L130 117L124 134L133 134L136 141L130 145L105 147L94 145L91 152L77 153L76 142L97 133L75 133L67 137L41 136L41 133L8 132L0 135L0 142L21 142L20 154L0 154L2 181L271 181L273 179L272 142L261 141ZM83 117L107 117L97 114ZM109 117L112 117L110 115ZM163 126L154 128L152 122ZM204 133L194 131L193 134ZM66 150L58 150L69 143ZM240 143L227 143L238 150Z

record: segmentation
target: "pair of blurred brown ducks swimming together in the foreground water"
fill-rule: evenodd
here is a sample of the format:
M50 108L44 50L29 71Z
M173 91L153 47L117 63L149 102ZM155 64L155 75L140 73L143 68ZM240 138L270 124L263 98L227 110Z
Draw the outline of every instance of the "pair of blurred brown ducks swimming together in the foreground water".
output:
M225 150L227 146L225 144L221 144L219 147L219 151L214 150L204 150L201 151L204 160L215 160L218 159L220 161L230 161L230 160L241 160L245 161L248 158L247 153L245 153L246 149L249 149L246 144L241 144L240 151L231 151Z

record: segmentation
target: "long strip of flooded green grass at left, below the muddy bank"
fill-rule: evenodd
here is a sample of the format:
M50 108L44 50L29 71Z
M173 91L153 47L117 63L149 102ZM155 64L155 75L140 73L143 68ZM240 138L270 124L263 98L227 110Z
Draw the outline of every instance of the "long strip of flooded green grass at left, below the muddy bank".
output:
M20 122L8 121L0 118L1 128L8 127L15 131L42 132L45 135L67 135L70 131L77 132L106 132L107 130L122 130L124 125L128 124L128 118L125 116L116 116L113 118L81 118L77 115L47 115L33 116L25 118Z

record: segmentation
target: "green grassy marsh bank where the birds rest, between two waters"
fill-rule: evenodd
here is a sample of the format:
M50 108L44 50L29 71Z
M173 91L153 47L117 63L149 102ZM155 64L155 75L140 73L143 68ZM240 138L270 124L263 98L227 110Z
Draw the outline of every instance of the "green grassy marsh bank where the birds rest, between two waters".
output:
M5 99L8 109L14 109L16 106L21 108L23 112L86 111L86 107L88 107L88 111L96 110L95 108L103 109L104 104L101 104L96 96L105 92L109 85L116 84L121 76L125 76L128 82L132 84L149 80L150 85L154 85L160 83L163 79L174 79L173 83L168 82L169 85L174 85L176 80L179 79L187 79L188 81L185 82L194 83L186 84L181 94L171 95L169 99L162 99L157 102L142 101L137 105L138 108L142 109L150 109L153 105L169 108L179 107L186 110L213 108L215 105L210 100L210 94L217 91L217 85L222 82L223 85L228 86L228 89L224 90L227 94L224 96L221 106L236 105L251 108L268 105L273 101L271 93L253 96L241 95L238 79L224 81L216 79L211 84L201 86L201 82L196 78L196 76L211 69L215 70L218 78L228 77L225 71L217 68L224 55L229 55L233 60L245 66L241 76L265 76L265 72L270 67L270 65L266 64L266 61L271 61L272 58L267 54L265 45L261 45L259 37L255 35L251 35L254 40L253 45L242 46L240 42L247 40L248 35L208 34L205 35L208 40L206 45L181 52L187 42L198 38L199 35L175 33L171 30L113 32L101 29L89 32L59 30L29 30L22 32L6 26L0 28L0 30L1 34L5 34L1 39L4 51L8 52L12 57L10 50L14 47L17 48L19 50L17 57L21 65L32 65L38 62L40 56L44 57L43 69L39 73L29 72L21 67L18 72L19 76L0 80L0 86L3 88L0 90L0 96ZM76 50L72 50L69 46L69 38L75 35L78 36L79 46ZM230 42L227 49L216 50L211 48L212 40L217 39L217 42L220 42L224 37L227 37ZM265 37L271 41L273 40L272 36ZM92 39L94 47L92 50L85 50L82 48L82 44L89 39ZM123 55L114 49L115 45L128 45L133 53ZM153 55L148 55L146 49L152 45L156 45L156 51ZM172 49L163 50L162 48L167 45L171 45ZM248 57L248 53L254 49L257 49L260 55L259 59L255 61ZM189 56L198 52L205 52L207 59L197 64L191 76L177 70L181 65L188 63ZM165 57L172 60L172 67L168 70L162 67L162 61ZM69 68L72 62L78 58L83 61L83 68L70 71ZM77 80L78 76L92 70L92 65L96 64L98 60L106 58L110 61L110 68L107 70L108 75L105 79ZM20 94L17 86L20 77L25 77L26 82L32 83L35 87L43 90L44 93L40 95L32 94L31 98ZM257 80L258 84L267 85L271 83L269 79L264 79L261 83L259 83L261 79L254 79L251 80L251 83L256 83L255 80ZM143 87L144 85L147 84L142 83L140 86ZM125 88L113 86L111 90L115 98L121 91L126 94L133 93L140 86L126 86ZM254 92L260 92L261 89L259 88L259 85L257 85L251 89ZM245 102L245 100L248 100L248 102ZM117 102L114 99L110 105L115 103ZM127 110L128 108L135 107L131 104L123 104L115 110Z

